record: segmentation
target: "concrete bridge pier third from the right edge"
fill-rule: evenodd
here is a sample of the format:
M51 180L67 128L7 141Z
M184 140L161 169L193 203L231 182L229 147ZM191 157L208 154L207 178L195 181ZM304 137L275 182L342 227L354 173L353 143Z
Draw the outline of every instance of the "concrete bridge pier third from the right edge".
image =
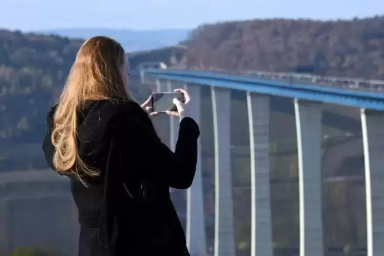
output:
M268 95L247 92L251 161L251 256L273 256Z

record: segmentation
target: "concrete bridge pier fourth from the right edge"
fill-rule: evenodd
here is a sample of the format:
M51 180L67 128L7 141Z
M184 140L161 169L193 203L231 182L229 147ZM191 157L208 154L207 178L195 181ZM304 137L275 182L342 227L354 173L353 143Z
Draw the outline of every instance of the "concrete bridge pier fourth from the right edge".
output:
M215 148L215 256L236 252L231 168L231 90L211 86Z

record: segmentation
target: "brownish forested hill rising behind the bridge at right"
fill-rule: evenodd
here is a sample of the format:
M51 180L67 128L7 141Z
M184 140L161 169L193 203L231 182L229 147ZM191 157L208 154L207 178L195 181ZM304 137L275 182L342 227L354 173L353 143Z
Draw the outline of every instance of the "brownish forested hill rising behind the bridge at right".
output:
M202 25L188 67L301 71L384 79L384 16L314 21L269 19Z

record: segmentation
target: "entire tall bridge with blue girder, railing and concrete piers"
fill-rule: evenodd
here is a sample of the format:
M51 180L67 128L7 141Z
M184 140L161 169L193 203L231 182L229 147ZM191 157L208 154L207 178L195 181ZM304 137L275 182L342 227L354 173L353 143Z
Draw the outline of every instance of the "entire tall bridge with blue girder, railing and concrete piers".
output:
M231 95L234 92L244 94L247 111L247 120L239 120L239 125L246 122L249 131L249 145L245 151L250 156L251 256L273 255L270 113L271 102L276 97L290 101L294 109L300 256L322 256L325 253L322 122L332 126L331 118L324 118L329 115L326 112L331 105L347 106L359 113L358 118L346 118L338 125L359 122L361 127L361 130L355 130L361 131L357 136L362 138L363 144L366 251L368 256L384 255L384 82L256 71L143 69L140 74L142 83L155 83L159 92L186 87L193 99L194 118L200 125L202 113L208 110L201 109L201 92L210 91L214 134L215 256L236 255L232 193L234 170L231 163L231 116L234 118ZM284 108L280 110L285 111ZM169 127L170 145L174 147L178 121L171 119ZM204 148L201 143L195 180L187 192L186 233L191 255L202 256L206 255L206 229L201 163Z

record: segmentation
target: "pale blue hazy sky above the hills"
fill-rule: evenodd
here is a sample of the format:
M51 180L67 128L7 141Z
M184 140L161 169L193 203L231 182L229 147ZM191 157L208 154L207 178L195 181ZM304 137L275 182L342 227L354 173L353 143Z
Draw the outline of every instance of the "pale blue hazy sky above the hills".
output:
M0 28L150 30L252 18L337 19L384 14L384 0L0 0Z

